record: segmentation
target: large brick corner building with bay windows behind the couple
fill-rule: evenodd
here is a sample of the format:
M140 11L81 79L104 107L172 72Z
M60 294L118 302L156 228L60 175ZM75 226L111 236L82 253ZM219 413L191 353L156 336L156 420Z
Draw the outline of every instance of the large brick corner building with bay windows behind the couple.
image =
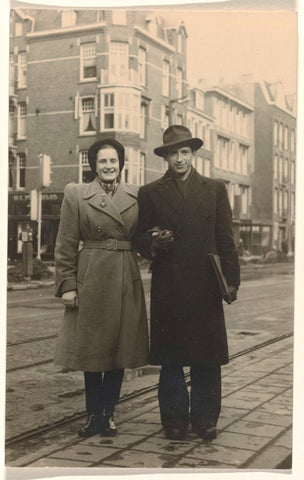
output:
M163 129L185 122L185 26L150 11L12 10L10 25L9 252L21 252L39 154L50 155L42 192L42 253L52 258L67 182L90 179L88 147L113 137L126 149L124 180L143 184L165 165ZM174 108L173 108L174 107ZM36 222L31 222L36 229ZM35 249L35 246L34 246Z

